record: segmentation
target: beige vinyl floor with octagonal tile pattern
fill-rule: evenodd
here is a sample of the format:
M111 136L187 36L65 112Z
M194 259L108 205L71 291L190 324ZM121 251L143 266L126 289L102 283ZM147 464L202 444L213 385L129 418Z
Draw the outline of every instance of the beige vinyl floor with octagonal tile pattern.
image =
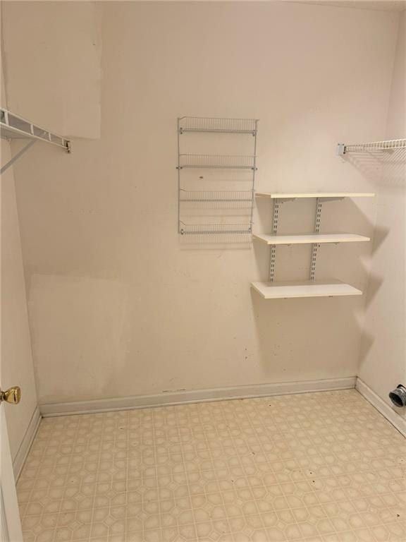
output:
M42 420L25 542L403 542L405 439L355 390Z

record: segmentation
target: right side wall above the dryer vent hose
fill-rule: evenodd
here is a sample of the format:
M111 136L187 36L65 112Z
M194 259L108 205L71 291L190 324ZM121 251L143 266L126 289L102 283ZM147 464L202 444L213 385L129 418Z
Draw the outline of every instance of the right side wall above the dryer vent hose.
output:
M406 134L406 11L400 14L386 138ZM359 376L388 404L406 385L406 159L388 155L379 181L376 242L367 296ZM395 411L406 418L405 409Z

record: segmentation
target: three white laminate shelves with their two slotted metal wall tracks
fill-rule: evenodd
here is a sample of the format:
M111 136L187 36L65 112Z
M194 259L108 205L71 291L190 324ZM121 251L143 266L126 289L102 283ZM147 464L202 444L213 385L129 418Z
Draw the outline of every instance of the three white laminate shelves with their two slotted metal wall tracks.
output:
M370 241L369 237L358 234L330 233L321 234L322 204L328 201L342 200L343 198L372 197L373 193L351 192L320 192L320 193L271 193L258 192L257 198L273 200L273 226L271 234L254 234L254 239L271 246L269 261L269 282L252 282L251 286L264 299L286 299L288 297L333 297L333 296L359 296L362 294L357 288L337 280L319 282L315 280L317 252L321 243L353 243ZM278 235L279 207L282 203L305 198L316 199L314 217L314 233ZM274 282L275 260L277 245L312 244L312 257L310 260L310 277L305 282Z

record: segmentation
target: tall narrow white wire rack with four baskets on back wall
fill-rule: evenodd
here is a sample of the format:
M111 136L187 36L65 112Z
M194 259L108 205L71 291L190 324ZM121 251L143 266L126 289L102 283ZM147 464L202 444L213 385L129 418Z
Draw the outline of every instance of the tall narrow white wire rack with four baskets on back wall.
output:
M257 171L257 129L258 119L225 119L214 117L183 116L178 119L178 233L181 235L235 235L252 233L252 217L254 212L255 173ZM248 155L212 155L189 154L181 152L181 139L187 134L209 133L215 134L245 134L252 135L250 147L252 154ZM194 136L190 135L191 138ZM220 137L220 136L219 136ZM196 141L196 140L195 140ZM199 139L197 141L200 141ZM217 141L217 140L216 140ZM228 140L228 143L230 140ZM223 169L245 170L249 190L235 190L230 187L230 177L221 180L222 190L212 190L205 184L203 176L199 176L199 184L188 186L183 179L183 171L187 169ZM237 173L236 173L237 174ZM242 172L240 174L243 174ZM229 188L224 188L224 183ZM233 183L235 185L235 183ZM198 189L196 189L198 188ZM185 207L194 203L193 207ZM185 209L204 209L209 213L210 208L247 209L245 220L228 222L229 216L216 214L215 221L211 223L186 223L183 219ZM235 213L238 214L238 213ZM233 217L235 218L235 217ZM195 222L196 217L193 217Z

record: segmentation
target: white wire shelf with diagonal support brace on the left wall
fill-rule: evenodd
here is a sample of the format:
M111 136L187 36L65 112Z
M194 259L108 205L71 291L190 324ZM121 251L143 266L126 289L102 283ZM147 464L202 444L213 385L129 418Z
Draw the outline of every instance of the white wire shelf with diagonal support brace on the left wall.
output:
M56 145L61 147L66 152L70 152L70 140L63 138L61 135L53 133L45 128L37 126L26 119L23 119L22 116L13 114L7 109L0 109L0 134L1 138L14 140L14 139L23 139L28 140L27 145L25 145L21 150L17 152L4 166L1 167L0 173L3 173L10 167L20 156L27 152L32 145L37 143L37 141L43 141L44 143L49 143L50 145Z

